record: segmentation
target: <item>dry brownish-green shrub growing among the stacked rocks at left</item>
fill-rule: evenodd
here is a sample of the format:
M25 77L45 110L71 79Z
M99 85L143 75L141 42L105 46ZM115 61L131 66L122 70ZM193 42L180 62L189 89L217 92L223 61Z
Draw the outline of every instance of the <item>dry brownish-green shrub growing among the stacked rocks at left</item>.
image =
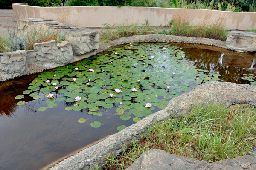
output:
M61 29L47 29L46 31L38 31L34 29L26 34L26 46L28 50L34 49L34 43L43 43L51 40L56 40L60 43L65 39Z

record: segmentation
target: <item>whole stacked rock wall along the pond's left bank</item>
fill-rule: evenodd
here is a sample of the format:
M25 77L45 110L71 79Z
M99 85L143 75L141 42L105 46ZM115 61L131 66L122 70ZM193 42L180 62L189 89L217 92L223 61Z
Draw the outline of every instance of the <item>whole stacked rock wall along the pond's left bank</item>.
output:
M90 57L91 55L87 54L99 48L97 30L81 29L71 24L42 18L21 19L17 24L20 35L32 31L62 29L66 38L61 43L56 43L55 40L35 43L34 49L29 51L0 53L0 81L73 63Z

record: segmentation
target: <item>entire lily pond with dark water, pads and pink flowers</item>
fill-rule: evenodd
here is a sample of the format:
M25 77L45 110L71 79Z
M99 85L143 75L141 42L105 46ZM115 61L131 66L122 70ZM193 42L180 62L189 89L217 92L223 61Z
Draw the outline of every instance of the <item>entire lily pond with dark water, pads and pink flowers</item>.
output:
M0 170L36 170L164 109L210 81L256 86L256 58L141 43L0 83Z

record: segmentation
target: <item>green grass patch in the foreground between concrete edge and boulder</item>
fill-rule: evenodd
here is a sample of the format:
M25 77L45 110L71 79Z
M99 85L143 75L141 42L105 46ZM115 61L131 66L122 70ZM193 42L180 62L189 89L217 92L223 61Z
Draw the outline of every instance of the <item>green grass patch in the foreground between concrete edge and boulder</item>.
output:
M108 156L105 170L125 169L151 149L208 162L253 154L250 151L256 147L255 123L253 106L199 106L188 115L149 127L139 142L132 141L119 156Z

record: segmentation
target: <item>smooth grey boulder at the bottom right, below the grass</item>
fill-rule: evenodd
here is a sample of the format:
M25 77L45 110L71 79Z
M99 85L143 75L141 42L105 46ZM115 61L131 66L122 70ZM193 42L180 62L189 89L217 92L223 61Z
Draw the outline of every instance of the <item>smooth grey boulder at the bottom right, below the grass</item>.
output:
M168 154L163 150L149 150L125 170L256 170L256 158L245 155L210 164L184 156Z

